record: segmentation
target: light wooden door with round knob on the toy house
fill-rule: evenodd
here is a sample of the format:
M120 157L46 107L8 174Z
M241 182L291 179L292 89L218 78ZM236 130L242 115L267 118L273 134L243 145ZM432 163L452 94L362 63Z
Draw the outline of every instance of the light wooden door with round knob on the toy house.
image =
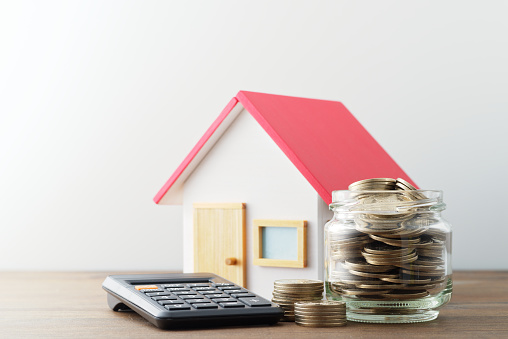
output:
M194 204L194 272L245 286L245 204Z

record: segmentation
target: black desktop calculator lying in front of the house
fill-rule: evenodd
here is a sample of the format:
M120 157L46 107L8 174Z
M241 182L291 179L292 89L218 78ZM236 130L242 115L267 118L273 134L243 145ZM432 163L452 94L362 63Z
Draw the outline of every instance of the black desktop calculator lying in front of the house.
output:
M133 310L162 329L275 324L282 308L211 273L110 275L113 311Z

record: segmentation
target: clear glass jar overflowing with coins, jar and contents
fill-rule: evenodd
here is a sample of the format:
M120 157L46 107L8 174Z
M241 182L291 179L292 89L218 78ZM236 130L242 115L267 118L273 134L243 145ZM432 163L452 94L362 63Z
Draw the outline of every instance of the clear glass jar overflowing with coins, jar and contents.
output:
M325 226L326 298L347 319L411 323L437 318L452 294L451 226L442 191L374 178L332 193Z

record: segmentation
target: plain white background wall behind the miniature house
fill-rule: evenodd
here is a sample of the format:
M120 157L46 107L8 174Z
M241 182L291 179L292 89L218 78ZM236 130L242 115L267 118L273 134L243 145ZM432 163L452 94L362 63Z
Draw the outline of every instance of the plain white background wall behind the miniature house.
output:
M445 191L455 269L508 269L507 16L505 1L0 1L0 269L181 269L181 208L151 199L240 89L342 101Z

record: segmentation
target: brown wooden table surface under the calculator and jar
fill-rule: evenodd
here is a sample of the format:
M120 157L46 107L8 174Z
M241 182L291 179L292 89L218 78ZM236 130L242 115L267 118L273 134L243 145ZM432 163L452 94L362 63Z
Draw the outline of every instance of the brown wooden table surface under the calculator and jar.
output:
M178 331L159 330L134 312L111 311L101 288L107 275L0 272L0 338L508 338L506 271L455 272L451 302L427 323L316 329L282 322Z

